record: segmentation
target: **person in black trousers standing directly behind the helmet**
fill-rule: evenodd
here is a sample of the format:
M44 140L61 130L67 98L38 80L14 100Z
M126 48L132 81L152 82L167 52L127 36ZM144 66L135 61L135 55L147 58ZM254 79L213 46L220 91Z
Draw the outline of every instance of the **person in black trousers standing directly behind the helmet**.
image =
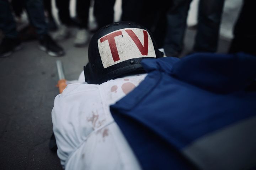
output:
M101 28L113 22L116 0L95 0L94 15ZM166 32L166 12L171 2L160 0L122 0L121 21L133 21L149 29L159 48L163 46Z

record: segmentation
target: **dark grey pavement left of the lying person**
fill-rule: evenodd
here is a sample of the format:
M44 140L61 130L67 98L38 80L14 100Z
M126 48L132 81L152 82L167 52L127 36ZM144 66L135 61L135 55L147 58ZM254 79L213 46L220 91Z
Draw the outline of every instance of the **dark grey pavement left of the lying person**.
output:
M55 61L63 61L66 79L78 79L87 63L87 46L73 47L69 39L60 44L64 57L51 57L25 42L20 51L0 58L0 169L62 169L49 148L51 111L58 95Z

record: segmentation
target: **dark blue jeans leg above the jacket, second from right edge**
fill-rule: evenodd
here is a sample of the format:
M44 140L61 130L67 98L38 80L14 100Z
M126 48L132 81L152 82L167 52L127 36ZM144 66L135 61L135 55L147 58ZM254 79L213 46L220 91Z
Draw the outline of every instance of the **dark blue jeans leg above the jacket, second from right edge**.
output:
M200 0L194 51L216 52L224 0Z

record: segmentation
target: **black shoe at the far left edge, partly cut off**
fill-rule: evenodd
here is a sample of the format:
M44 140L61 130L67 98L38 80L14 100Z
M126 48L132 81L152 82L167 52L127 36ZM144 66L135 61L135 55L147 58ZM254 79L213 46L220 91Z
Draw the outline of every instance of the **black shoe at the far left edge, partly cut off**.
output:
M18 38L4 38L0 44L0 58L8 57L20 49L21 42Z

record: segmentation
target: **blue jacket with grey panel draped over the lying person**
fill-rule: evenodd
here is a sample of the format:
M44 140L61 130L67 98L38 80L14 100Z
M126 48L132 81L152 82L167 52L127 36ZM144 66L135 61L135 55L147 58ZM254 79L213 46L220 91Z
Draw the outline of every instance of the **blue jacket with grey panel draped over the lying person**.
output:
M145 59L145 80L110 107L141 166L256 167L256 57Z

